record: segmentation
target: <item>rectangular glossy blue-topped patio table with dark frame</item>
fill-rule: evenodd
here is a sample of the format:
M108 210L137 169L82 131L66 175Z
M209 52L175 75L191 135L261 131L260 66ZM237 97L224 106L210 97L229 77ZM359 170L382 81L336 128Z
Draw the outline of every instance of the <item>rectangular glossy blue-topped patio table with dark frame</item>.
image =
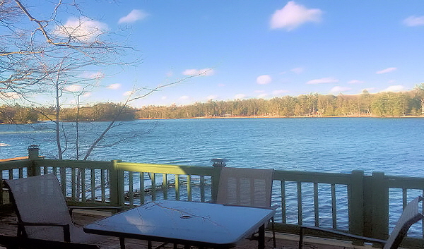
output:
M159 200L114 214L84 226L86 233L175 243L207 248L232 248L259 231L258 248L264 248L265 224L275 211L204 202Z

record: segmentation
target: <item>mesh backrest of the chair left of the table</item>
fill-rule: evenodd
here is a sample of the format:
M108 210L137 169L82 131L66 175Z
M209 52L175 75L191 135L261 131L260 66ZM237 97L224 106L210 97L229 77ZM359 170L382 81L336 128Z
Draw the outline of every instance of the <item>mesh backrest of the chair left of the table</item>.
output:
M72 224L59 181L54 174L5 180L20 222ZM26 233L33 229L27 227ZM30 236L30 234L28 234Z

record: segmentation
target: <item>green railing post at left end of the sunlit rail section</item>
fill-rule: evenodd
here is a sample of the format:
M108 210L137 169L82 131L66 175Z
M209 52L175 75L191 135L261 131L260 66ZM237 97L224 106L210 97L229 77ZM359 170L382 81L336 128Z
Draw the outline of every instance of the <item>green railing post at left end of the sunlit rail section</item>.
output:
M124 171L118 169L121 160L112 160L109 169L110 176L110 204L115 206L124 205Z

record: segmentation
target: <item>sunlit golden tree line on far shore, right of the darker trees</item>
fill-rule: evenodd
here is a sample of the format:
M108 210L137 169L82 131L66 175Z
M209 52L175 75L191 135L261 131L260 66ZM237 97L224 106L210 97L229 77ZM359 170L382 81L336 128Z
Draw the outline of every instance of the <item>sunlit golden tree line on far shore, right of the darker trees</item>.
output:
M424 85L409 92L366 90L360 95L299 95L273 99L238 99L195 103L182 107L148 106L138 119L189 119L225 116L419 116L424 114Z

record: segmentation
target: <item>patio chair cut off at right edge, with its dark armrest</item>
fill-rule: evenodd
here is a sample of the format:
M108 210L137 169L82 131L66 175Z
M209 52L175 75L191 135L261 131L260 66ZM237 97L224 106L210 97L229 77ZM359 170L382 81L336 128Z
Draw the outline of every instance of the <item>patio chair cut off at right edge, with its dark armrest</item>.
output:
M344 233L342 231L336 231L334 229L325 229L320 228L316 226L300 226L300 236L299 236L299 249L302 249L303 245L303 237L305 230L310 229L314 231L325 233L334 234L338 237L344 237L344 238L350 238L351 241L363 241L368 243L377 243L383 246L383 249L395 249L398 248L401 244L402 240L404 240L404 237L406 236L406 233L408 232L408 229L417 221L420 221L420 219L423 219L424 215L422 212L420 212L420 205L419 202L423 201L423 197L418 196L414 200L408 203L406 207L404 208L404 211L401 214L401 217L399 217L399 220L396 223L396 226L394 226L393 231L390 233L389 238L387 241L380 240L377 238L368 238L364 236L357 236L351 233Z

